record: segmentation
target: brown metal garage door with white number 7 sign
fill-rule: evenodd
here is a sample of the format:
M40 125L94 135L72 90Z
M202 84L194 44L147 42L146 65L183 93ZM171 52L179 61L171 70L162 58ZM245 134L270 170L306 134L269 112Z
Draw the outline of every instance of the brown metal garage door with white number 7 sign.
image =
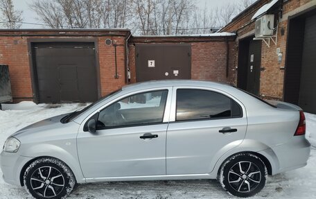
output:
M190 44L137 44L137 82L190 79Z

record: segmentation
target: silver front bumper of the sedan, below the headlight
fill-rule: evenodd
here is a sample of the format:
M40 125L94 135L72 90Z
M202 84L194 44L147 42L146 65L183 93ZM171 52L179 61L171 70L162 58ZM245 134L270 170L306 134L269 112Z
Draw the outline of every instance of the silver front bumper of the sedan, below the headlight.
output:
M18 153L1 152L0 166L3 173L3 180L9 184L21 186L20 173L23 166L33 157L24 157Z

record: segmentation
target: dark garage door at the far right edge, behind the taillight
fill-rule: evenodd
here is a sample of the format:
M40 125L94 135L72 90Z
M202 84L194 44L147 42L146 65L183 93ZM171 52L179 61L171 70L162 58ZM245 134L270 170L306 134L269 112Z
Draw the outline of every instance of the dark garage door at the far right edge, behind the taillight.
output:
M316 15L305 22L299 106L306 112L316 113Z

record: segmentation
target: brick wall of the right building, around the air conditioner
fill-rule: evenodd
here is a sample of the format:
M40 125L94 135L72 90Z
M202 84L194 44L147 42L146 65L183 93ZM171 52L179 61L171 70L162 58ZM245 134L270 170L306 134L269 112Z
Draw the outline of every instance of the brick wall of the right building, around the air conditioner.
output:
M283 81L284 81L284 68L286 60L286 45L287 45L287 30L288 30L288 17L293 10L304 6L306 3L311 3L315 0L288 0L283 3L283 18L279 18L279 27L278 27L278 40L277 45L274 45L272 42L270 48L262 42L261 49L261 67L265 68L264 71L261 71L260 78L260 94L266 98L283 98ZM265 3L269 3L270 0L261 0L256 1L253 6L247 8L245 12L238 15L233 19L225 28L222 28L221 31L226 32L236 32L236 55L234 66L238 67L238 40L243 39L247 36L254 35L254 21L251 21L252 16L261 8ZM283 35L281 34L283 32ZM281 49L283 57L281 63L278 62L277 48ZM234 73L234 76L237 76L237 71Z

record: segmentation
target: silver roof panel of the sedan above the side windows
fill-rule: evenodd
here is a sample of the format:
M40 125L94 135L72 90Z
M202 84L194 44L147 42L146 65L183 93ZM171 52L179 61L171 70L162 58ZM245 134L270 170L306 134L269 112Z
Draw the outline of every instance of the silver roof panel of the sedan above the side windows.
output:
M150 89L153 87L173 87L173 86L204 86L213 88L231 87L227 83L216 83L207 80L151 80L143 83L133 83L122 87L123 91L131 89Z

